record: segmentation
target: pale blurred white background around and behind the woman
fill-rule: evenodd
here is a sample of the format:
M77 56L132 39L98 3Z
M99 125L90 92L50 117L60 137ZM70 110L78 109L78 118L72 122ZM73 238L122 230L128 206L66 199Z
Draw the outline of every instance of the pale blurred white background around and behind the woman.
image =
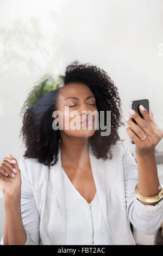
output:
M1 0L0 1L0 161L11 153L22 158L18 138L20 110L36 80L45 73L64 74L72 61L104 69L118 88L123 117L130 101L149 99L154 121L163 129L162 0ZM124 118L122 120L124 123ZM135 157L126 127L121 139ZM156 147L163 183L163 140ZM0 238L4 231L0 199ZM161 243L133 228L137 244Z

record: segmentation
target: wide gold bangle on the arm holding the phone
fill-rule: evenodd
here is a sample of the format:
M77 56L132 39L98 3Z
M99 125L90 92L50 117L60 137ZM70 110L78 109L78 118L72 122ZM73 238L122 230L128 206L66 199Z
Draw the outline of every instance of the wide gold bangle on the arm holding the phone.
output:
M135 195L138 199L140 199L141 201L145 202L145 203L156 203L158 201L160 201L163 198L163 186L162 184L160 184L161 186L161 190L159 192L158 195L156 195L155 197L144 197L143 195L141 195L137 189L138 184L135 187Z

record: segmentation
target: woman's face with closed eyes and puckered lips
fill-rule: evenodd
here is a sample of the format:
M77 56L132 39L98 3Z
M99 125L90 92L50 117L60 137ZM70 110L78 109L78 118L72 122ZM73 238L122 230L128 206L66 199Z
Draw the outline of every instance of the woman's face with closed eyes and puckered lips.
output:
M90 137L95 133L98 111L95 97L87 85L73 82L61 87L56 108L62 113L60 133L76 137Z

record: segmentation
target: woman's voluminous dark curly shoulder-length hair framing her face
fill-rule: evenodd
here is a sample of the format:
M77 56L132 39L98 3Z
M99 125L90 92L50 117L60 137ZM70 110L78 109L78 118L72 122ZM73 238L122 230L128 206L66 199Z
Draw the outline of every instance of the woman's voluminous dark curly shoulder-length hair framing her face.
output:
M51 76L45 75L30 92L24 102L21 112L23 113L23 126L19 136L26 146L23 157L36 158L39 163L50 166L58 161L60 144L60 132L52 128L53 111L56 110L60 88L51 90L43 95L43 88ZM79 64L76 60L66 67L65 75L62 76L64 86L72 82L80 82L90 87L96 99L97 110L111 110L111 133L109 136L101 136L101 129L89 137L91 152L96 158L112 158L111 145L120 140L118 127L124 126L121 121L121 99L114 82L102 69L91 66L90 63ZM33 99L36 100L34 104ZM30 104L29 104L30 103ZM33 106L32 106L33 103ZM29 107L30 106L30 107ZM32 106L32 107L31 107ZM100 112L99 112L100 115ZM100 116L99 116L100 117ZM109 153L109 155L108 155ZM54 161L52 163L52 161Z

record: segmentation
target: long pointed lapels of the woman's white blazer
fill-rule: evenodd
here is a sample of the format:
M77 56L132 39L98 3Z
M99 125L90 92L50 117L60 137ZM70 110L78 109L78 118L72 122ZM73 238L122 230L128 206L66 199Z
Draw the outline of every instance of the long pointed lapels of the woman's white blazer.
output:
M108 219L107 219L107 212L106 212L106 183L105 183L104 161L101 158L97 159L95 156L93 156L90 149L89 149L89 157L90 157L92 174L95 181L95 186L97 189L103 217L108 227ZM58 153L58 161L55 165L53 166L51 165L49 169L51 169L50 175L51 175L53 189L57 196L61 212L66 218L64 177L62 174L60 147L59 147L59 153Z

